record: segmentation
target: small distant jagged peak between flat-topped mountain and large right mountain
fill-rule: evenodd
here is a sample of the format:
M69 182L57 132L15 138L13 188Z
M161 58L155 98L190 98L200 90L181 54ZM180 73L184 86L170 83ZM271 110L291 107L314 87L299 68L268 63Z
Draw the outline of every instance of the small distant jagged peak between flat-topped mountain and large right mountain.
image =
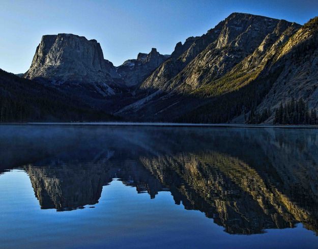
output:
M139 85L152 71L160 66L169 55L162 55L152 48L150 53L138 53L137 59L127 60L117 68L117 73L128 87Z

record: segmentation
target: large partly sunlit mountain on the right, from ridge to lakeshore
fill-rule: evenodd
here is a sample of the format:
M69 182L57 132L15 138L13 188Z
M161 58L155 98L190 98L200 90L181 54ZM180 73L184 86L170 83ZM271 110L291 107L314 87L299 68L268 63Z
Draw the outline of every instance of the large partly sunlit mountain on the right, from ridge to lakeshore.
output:
M301 26L233 13L192 38L178 59L172 53L141 84L140 91L152 95L118 114L172 122L316 124L317 25L318 18ZM212 42L193 53L207 37Z

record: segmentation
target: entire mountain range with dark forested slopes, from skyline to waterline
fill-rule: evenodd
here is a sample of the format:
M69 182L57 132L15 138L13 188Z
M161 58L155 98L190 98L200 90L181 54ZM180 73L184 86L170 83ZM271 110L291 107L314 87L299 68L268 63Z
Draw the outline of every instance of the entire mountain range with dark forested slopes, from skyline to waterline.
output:
M171 55L119 67L96 40L45 35L25 74L1 71L0 121L316 124L317 85L317 17L233 13Z

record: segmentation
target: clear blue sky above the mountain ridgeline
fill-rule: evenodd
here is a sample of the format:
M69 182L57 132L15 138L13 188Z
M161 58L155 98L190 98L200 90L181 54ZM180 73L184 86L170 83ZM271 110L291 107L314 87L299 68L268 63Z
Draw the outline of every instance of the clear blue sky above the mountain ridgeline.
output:
M26 72L42 35L59 33L96 39L115 66L152 47L170 54L233 12L304 24L318 0L0 0L0 68Z

